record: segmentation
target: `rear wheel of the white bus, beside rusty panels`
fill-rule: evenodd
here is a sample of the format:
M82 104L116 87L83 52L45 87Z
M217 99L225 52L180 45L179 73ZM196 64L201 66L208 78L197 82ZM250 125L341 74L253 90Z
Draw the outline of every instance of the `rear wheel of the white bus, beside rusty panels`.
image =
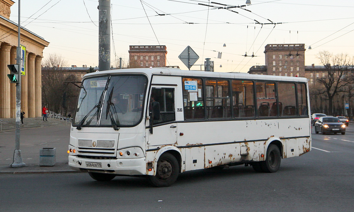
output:
M260 162L263 172L273 173L278 171L280 162L281 156L279 148L274 144L269 145L265 161Z

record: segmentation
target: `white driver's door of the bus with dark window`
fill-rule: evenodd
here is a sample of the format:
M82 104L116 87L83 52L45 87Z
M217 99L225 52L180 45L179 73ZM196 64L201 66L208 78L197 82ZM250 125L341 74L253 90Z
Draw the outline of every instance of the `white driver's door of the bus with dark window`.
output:
M158 104L156 103L158 102ZM170 145L177 143L177 122L175 111L175 86L153 86L149 102L147 121L148 146ZM153 114L153 107L159 106L160 113ZM154 117L155 120L152 120ZM151 127L152 124L152 127ZM155 147L152 147L155 148Z

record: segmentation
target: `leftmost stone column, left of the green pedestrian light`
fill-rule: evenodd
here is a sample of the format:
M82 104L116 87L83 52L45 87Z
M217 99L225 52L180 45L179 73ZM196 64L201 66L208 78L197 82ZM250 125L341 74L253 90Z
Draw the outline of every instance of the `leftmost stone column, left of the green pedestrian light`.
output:
M10 64L11 45L1 44L0 48L0 118L11 118L10 103L10 80L7 74L10 70L7 65Z

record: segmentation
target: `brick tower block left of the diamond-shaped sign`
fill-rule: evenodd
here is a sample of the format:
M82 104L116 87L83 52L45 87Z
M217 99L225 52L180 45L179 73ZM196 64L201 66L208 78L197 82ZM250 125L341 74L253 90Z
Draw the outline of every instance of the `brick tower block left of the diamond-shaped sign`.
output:
M166 46L129 46L128 52L130 68L166 66Z

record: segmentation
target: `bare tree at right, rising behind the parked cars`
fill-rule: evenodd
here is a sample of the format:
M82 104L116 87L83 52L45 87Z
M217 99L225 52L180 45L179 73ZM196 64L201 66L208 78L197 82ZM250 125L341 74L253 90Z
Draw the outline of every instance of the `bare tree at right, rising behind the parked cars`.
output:
M325 94L328 100L328 113L333 115L334 97L338 93L349 92L348 86L353 83L353 59L343 53L332 55L328 51L320 52L318 58L324 65L327 75L317 78L323 85L317 94Z

